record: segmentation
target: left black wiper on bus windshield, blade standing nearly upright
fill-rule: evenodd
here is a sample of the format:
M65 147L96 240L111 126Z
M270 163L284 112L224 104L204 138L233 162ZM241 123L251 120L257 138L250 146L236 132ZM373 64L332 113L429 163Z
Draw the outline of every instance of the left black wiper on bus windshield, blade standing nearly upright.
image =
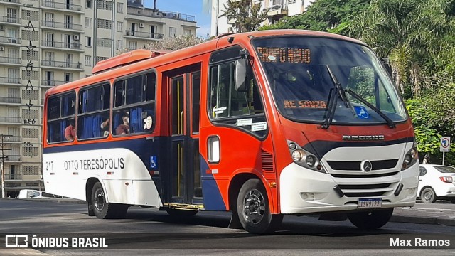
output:
M351 112L353 112L353 115L357 116L357 114L355 114L355 110L353 109L353 106L350 104L350 101L348 100L348 97L346 97L345 90L341 86L341 83L338 82L336 75L333 74L331 68L328 65L326 65L326 68L327 68L328 74L330 75L331 80L333 82L334 90L333 89L331 90L331 95L329 96L329 102L328 102L328 106L327 106L328 113L326 115L326 119L324 120L324 122L321 126L322 129L327 129L330 126L330 124L332 123L333 116L335 115L336 105L338 103L338 95L341 97L341 100L343 100L346 107L348 109L350 109Z

